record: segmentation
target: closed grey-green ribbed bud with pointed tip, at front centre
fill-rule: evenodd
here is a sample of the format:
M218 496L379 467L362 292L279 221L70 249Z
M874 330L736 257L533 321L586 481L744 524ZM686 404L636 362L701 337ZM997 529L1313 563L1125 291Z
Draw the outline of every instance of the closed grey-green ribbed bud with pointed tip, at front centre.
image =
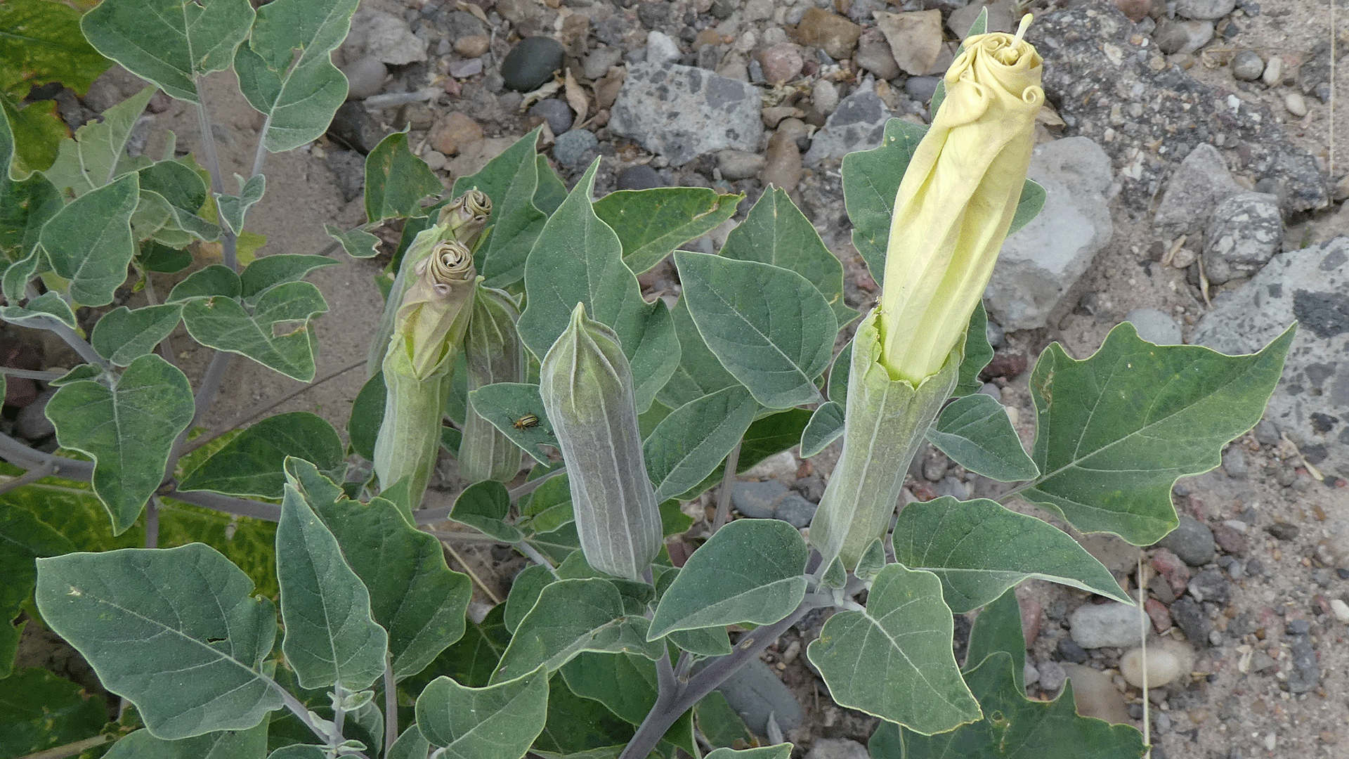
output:
M581 552L596 570L642 579L661 550L661 515L642 458L633 373L612 330L576 304L540 367L540 394L567 461Z

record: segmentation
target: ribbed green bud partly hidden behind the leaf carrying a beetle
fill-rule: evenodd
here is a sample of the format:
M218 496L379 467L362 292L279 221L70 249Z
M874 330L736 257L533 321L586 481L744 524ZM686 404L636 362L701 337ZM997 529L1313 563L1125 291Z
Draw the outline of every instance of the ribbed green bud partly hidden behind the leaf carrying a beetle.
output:
M468 390L495 382L525 381L525 344L515 331L519 307L503 290L479 285L473 315L464 335ZM468 404L464 440L459 446L459 473L469 482L506 482L519 471L522 451L510 438Z

